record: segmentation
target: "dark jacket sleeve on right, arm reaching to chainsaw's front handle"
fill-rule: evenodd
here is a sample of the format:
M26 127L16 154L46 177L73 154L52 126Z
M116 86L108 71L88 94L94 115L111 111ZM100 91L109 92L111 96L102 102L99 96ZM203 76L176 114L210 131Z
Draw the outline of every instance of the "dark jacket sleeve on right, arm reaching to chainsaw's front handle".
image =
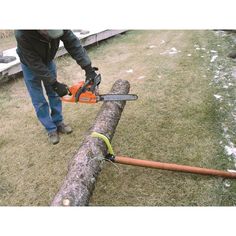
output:
M84 69L86 66L91 65L91 60L81 45L80 40L71 30L64 30L63 36L60 38L73 59Z

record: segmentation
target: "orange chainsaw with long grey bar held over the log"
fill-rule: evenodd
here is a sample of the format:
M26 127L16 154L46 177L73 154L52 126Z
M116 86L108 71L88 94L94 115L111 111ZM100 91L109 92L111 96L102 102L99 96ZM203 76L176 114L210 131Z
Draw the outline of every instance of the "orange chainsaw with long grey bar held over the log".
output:
M80 81L68 88L68 95L61 98L64 102L72 103L97 103L100 101L133 101L138 99L136 94L99 94L98 85L101 82L101 75L98 74L93 83L91 79Z

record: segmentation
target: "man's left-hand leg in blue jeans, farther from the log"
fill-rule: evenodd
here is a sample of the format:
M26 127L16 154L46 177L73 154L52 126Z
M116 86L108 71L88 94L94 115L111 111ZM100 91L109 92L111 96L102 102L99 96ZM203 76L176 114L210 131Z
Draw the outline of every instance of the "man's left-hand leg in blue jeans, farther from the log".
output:
M26 65L21 64L21 67L24 75L24 81L39 121L48 133L57 131L57 126L54 124L50 116L49 106L43 94L41 80L39 80Z

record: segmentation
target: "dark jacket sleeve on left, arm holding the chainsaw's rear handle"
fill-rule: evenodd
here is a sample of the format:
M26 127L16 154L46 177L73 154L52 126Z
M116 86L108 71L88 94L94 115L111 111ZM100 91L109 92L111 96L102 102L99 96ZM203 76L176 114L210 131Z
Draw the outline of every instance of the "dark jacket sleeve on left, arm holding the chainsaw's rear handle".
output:
M35 52L31 42L29 42L29 39L17 32L15 33L15 37L17 41L17 52L19 57L22 58L21 61L23 61L24 64L26 63L37 78L53 84L56 81L56 77L50 73L41 57L37 54L37 52Z

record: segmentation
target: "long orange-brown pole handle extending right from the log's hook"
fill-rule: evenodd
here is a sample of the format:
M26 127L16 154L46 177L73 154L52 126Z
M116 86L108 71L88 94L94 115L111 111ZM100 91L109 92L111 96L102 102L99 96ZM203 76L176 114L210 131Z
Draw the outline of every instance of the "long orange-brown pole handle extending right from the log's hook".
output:
M220 177L232 178L232 179L236 178L236 173L234 172L200 168L200 167L194 167L194 166L178 165L178 164L165 163L165 162L140 160L140 159L134 159L130 157L115 156L114 162L119 163L119 164L142 166L142 167L149 167L149 168L162 169L162 170L181 171L181 172L201 174L201 175L213 175L213 176L220 176Z

